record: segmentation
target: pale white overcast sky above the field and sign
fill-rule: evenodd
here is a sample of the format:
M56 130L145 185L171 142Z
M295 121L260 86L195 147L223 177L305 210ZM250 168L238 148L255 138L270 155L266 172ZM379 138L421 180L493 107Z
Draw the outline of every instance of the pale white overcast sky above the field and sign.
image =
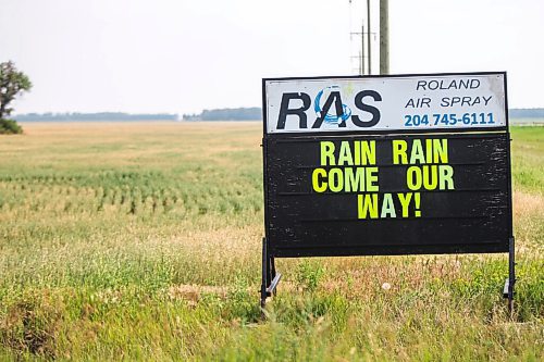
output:
M0 0L0 61L34 83L17 113L258 107L262 77L357 73L364 2ZM390 0L390 23L391 73L507 71L510 107L544 107L543 0Z

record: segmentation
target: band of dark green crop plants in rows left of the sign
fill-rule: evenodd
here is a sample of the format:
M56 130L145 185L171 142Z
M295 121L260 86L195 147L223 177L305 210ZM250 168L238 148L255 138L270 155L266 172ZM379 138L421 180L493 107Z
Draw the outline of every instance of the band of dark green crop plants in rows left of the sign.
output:
M96 213L108 210L127 214L198 213L236 214L259 212L261 192L250 187L243 190L214 185L153 187L153 185L120 185L74 187L0 183L0 211L17 214L50 211L59 213Z

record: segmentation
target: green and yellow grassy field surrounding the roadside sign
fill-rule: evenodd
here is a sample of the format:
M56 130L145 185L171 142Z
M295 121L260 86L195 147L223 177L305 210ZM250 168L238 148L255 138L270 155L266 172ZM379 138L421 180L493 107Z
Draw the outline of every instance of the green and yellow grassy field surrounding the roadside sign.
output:
M0 137L0 360L544 358L544 127L512 132L512 319L506 255L421 255L279 260L262 320L258 123L25 132Z

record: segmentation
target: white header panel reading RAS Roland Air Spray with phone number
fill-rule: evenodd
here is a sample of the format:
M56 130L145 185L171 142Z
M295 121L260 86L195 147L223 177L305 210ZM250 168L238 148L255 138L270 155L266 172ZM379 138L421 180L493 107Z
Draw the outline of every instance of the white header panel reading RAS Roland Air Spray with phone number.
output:
M506 73L263 79L267 133L506 127Z

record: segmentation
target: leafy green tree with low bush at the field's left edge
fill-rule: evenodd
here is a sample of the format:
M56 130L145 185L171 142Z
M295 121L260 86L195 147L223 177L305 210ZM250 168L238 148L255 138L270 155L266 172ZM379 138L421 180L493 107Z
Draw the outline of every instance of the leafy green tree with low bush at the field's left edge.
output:
M0 134L20 134L23 129L13 120L8 120L12 108L8 105L24 91L30 90L33 84L28 76L18 72L12 61L0 63Z

